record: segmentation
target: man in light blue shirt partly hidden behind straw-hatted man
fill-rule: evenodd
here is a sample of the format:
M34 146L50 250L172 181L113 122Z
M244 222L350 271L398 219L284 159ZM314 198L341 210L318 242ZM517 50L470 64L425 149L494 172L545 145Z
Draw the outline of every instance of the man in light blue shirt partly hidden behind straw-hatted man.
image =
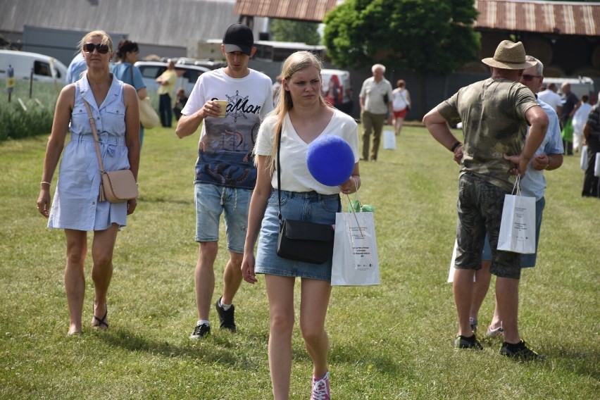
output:
M531 68L527 68L521 75L520 82L527 86L536 96L539 87L544 81L544 64L537 58L532 56L525 57L526 61L535 61L537 64ZM544 189L546 189L546 178L544 170L556 170L563 165L563 142L561 139L561 127L558 123L558 115L554 108L544 101L537 98L537 103L546 112L549 119L548 130L546 136L535 151L535 155L527 165L527 173L521 177L520 189L521 194L527 197L535 197L535 248L534 254L521 255L521 268L535 267L537 258L537 244L539 242L539 232L542 228L542 213L546 206L544 198ZM475 271L475 292L473 296L473 304L470 311L470 323L477 329L477 314L481 308L483 300L489 289L489 281L492 275L489 273L489 265L492 263L492 249L489 246L489 240L485 239L485 246L482 254L481 269ZM504 335L502 320L498 314L498 308L494 309L494 317L492 323L489 324L486 337L501 337Z

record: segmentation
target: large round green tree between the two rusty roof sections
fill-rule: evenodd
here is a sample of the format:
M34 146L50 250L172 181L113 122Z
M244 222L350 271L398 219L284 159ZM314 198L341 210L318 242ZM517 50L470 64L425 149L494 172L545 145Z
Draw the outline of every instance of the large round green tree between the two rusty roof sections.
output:
M325 15L323 41L340 67L448 75L477 59L476 18L473 0L347 0Z

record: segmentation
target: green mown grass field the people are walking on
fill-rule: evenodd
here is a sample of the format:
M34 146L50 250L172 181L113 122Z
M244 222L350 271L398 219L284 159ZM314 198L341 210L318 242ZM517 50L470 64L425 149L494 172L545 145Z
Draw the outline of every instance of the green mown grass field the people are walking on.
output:
M197 140L146 131L139 206L115 249L111 328L85 326L80 337L65 335L63 232L48 230L35 207L46 137L0 142L1 399L271 398L262 277L254 286L243 283L235 298L237 334L214 330L204 340L188 339L196 322ZM598 398L600 202L580 196L578 157L546 173L537 267L520 283L521 334L547 360L515 363L499 356L497 340L484 341L485 351L454 351L456 311L446 277L458 165L423 127L406 127L398 145L382 150L377 163L361 163L361 200L376 208L382 284L332 291L326 327L333 398ZM223 243L213 301L222 290ZM490 293L480 326L492 310ZM291 397L308 399L311 361L297 327L292 345Z

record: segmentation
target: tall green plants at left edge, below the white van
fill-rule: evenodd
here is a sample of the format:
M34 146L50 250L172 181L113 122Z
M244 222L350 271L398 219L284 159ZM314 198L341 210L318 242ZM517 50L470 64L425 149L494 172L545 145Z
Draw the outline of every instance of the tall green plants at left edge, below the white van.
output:
M50 133L62 85L33 82L30 99L29 82L16 81L10 103L4 80L0 80L0 88L0 141Z

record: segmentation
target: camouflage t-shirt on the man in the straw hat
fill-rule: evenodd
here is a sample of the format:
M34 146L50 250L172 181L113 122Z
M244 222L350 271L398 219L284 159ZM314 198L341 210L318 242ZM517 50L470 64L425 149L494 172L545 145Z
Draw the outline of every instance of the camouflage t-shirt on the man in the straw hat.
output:
M512 190L514 164L504 154L520 154L527 129L525 112L537 105L524 85L492 77L461 88L439 104L437 111L449 123L463 123L461 175L475 173L492 185Z

